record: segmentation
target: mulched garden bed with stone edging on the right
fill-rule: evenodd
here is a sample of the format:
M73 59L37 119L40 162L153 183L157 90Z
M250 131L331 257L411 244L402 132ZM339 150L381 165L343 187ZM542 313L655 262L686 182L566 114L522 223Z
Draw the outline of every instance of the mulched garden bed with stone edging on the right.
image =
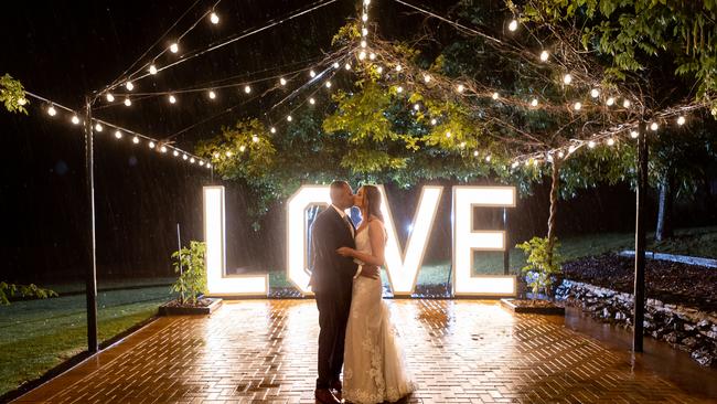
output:
M634 259L601 255L564 265L556 298L591 317L633 326ZM717 270L648 259L644 333L717 365Z

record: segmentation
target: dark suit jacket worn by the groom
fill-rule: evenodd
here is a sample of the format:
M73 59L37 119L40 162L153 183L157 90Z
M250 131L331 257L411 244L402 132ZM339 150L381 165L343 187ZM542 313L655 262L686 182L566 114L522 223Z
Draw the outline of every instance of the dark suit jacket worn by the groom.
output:
M355 230L354 230L355 231ZM311 279L313 291L351 294L358 266L351 257L336 253L339 247L355 248L351 228L335 209L329 206L311 225Z

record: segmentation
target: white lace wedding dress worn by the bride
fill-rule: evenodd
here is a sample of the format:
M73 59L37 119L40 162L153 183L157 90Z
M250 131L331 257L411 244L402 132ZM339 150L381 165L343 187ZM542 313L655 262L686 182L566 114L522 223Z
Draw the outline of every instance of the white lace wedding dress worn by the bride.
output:
M356 249L372 254L367 226L356 234ZM381 279L358 276L353 281L342 389L347 402L395 402L416 390L382 289Z

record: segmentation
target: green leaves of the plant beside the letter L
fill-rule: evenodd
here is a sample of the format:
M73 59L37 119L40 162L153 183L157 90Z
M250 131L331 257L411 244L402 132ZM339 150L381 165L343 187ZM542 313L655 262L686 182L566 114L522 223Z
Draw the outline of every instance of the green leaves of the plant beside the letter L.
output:
M171 286L172 291L179 293L180 304L189 300L191 305L196 305L199 295L206 290L206 263L204 254L206 244L204 242L190 242L190 247L172 253L174 258L174 272L180 277Z

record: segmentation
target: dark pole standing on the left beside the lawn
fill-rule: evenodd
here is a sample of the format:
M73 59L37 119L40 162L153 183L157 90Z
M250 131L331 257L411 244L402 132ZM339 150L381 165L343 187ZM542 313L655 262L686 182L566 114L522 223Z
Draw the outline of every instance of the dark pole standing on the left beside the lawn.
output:
M97 244L95 237L95 155L92 121L92 98L85 98L85 169L89 198L89 265L87 266L85 295L87 300L87 351L99 350L97 343Z

